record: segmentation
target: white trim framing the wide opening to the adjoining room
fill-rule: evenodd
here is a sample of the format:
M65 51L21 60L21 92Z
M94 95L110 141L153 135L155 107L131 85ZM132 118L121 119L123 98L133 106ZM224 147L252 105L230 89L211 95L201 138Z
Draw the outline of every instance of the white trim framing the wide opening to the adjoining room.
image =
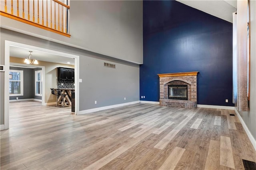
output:
M41 47L36 47L32 45L11 42L5 40L5 47L4 47L4 64L5 64L5 71L4 71L4 129L9 128L9 70L10 70L10 46L22 47L22 48L29 48L35 49L37 51L42 51L46 53L52 53L56 55L62 55L63 57L70 57L75 59L75 114L79 114L79 55L64 53L60 51L54 51L50 49L45 49ZM43 71L44 74L44 71ZM43 83L44 84L44 83ZM43 85L44 90L45 84ZM45 91L45 90L44 90ZM42 97L42 100L44 97ZM45 105L45 101L42 101Z

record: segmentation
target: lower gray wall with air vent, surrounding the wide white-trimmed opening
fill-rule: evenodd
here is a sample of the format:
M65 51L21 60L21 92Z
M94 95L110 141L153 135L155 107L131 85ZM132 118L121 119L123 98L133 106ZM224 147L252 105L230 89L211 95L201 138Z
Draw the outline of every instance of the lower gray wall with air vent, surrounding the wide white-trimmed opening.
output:
M138 64L6 29L0 30L0 36L1 64L2 62L4 63L5 40L79 55L79 72L80 79L82 79L82 83L80 83L79 111L140 100ZM104 62L116 64L116 69L104 67ZM4 77L4 74L1 74L0 91L1 94L4 94L2 77ZM126 100L124 100L124 97L126 97ZM96 105L94 104L95 100L97 101ZM4 111L2 111L2 108L4 108L4 98L1 98L0 107L2 121L4 119Z

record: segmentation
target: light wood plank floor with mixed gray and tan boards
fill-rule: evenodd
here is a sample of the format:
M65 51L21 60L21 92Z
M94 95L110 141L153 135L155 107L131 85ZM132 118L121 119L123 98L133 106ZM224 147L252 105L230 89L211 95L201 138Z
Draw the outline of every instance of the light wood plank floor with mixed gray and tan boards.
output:
M135 104L86 115L10 103L5 169L244 169L256 152L234 111Z

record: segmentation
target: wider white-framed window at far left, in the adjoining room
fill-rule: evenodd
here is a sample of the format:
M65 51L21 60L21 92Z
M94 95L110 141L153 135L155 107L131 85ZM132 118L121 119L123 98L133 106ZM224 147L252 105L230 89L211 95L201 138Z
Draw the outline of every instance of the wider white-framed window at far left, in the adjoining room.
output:
M9 95L23 96L23 70L10 70Z

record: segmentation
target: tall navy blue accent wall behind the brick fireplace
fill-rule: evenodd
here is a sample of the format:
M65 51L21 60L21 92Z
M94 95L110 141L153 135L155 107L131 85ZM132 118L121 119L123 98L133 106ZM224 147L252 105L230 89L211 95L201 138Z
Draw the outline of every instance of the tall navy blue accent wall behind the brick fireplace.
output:
M187 71L200 72L198 104L234 106L232 23L177 1L143 1L140 100L159 101L158 73Z

